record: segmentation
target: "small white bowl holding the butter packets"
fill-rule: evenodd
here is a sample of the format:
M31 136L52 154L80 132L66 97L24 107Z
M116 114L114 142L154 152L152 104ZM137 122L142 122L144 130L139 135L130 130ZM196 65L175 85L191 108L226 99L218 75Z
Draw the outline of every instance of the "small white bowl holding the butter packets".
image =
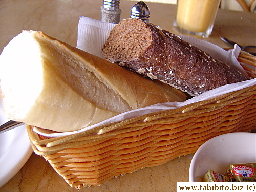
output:
M189 167L189 181L201 181L211 169L224 174L232 163L256 163L256 134L227 133L200 146Z

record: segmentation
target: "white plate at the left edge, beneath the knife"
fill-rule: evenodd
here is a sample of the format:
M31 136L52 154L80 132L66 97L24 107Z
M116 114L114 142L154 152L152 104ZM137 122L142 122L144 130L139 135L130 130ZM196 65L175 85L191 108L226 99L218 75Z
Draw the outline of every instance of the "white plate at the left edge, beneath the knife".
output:
M0 101L0 125L7 122ZM32 154L25 125L0 134L0 187L7 183Z

